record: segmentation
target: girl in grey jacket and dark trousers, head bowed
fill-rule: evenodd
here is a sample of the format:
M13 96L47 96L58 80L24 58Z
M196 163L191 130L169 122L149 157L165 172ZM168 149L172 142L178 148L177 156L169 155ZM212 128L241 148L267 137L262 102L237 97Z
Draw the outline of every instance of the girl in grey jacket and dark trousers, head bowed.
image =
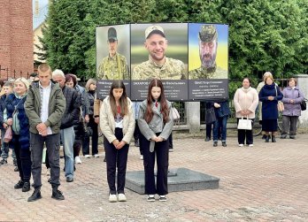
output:
M140 106L138 126L141 132L140 146L143 151L145 194L148 201L166 201L168 194L167 174L169 141L173 129L171 103L166 100L161 80L151 80L148 97ZM157 186L155 186L154 165L157 156Z

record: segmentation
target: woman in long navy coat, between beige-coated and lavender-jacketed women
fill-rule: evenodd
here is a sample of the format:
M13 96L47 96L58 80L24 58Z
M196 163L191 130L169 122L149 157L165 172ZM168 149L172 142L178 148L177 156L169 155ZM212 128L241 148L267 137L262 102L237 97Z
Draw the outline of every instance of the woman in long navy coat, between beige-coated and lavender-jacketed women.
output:
M273 82L273 76L268 76L265 85L258 94L262 102L262 130L266 132L266 142L269 142L269 133L272 132L272 142L276 142L278 127L277 104L283 97L281 89Z

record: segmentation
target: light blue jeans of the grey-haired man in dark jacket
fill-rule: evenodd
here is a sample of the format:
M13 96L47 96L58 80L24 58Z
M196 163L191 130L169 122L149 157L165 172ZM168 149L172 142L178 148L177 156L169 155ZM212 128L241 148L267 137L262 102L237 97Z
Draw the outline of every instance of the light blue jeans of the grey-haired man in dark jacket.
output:
M65 152L65 177L73 178L73 142L75 141L75 132L73 126L61 129L61 140Z

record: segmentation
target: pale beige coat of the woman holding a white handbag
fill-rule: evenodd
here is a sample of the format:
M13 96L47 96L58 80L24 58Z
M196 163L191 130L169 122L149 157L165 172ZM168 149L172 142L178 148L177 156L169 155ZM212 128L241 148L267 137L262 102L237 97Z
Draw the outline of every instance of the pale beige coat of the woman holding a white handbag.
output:
M235 92L235 117L242 118L241 111L252 111L249 119L255 118L255 112L258 106L258 92L255 88L238 88Z

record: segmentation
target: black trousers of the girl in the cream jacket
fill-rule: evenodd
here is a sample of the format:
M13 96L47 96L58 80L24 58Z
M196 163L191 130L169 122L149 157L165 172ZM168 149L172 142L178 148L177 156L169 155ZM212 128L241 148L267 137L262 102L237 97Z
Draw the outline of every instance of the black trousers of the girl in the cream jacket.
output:
M121 128L115 129L115 136L119 142L123 139ZM104 151L107 165L107 180L110 194L124 194L125 176L127 173L127 155L129 145L126 144L121 149L116 149L113 143L108 142L104 137ZM116 169L118 168L117 188L115 186Z

